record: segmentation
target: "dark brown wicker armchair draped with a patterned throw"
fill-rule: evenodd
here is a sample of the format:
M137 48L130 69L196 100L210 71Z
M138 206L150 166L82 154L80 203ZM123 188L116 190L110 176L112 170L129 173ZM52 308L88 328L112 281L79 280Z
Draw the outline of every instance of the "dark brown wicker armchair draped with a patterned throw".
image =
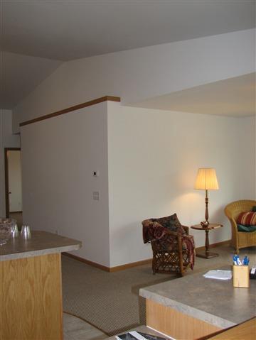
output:
M188 226L181 226L183 229L183 234L181 234L161 225L161 220L168 219L169 217L171 216L142 221L144 243L151 243L153 274L176 273L178 276L183 276L188 265L193 269L193 236L188 235ZM155 226L157 228L154 234L155 237L150 238L146 236L149 230L154 230Z

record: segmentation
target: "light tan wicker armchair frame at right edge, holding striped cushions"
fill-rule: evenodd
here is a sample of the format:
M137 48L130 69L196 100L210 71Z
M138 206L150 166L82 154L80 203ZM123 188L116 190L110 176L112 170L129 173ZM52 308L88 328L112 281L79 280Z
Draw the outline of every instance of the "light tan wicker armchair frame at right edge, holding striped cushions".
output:
M232 202L224 209L225 215L228 217L231 224L231 246L235 248L236 253L239 253L240 248L256 246L256 231L252 231L250 233L238 231L236 222L240 212L250 212L253 206L256 206L256 201L244 199Z

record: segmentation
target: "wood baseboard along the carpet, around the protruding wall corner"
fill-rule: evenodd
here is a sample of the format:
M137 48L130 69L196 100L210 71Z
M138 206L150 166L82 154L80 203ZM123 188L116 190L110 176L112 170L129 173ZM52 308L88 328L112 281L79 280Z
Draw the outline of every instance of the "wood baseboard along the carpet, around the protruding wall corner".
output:
M214 247L217 247L217 246L229 245L230 241L231 240L213 243L213 244L210 245L210 248L214 248ZM205 247L202 246L202 247L196 248L196 251L203 251L204 249L205 249ZM63 255L68 256L70 258L74 258L75 260L86 263L87 265L92 265L92 267L96 267L96 268L99 268L101 270L105 270L105 272L108 272L108 273L114 273L114 272L118 272L119 270L137 267L137 265L147 265L149 263L152 263L152 259L148 258L147 260L137 261L137 262L132 262L132 263L126 263L125 265L117 265L115 267L107 267L106 265L100 265L100 263L92 262L92 261L86 260L86 258L80 258L80 256L76 256L76 255L73 255L73 254L70 254L70 253L63 253Z

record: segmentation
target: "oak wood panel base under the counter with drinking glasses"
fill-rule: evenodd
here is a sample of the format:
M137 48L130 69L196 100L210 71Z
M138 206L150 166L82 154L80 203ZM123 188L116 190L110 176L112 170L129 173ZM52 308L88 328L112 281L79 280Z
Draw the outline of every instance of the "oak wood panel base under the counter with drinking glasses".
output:
M0 262L0 339L63 339L60 253Z

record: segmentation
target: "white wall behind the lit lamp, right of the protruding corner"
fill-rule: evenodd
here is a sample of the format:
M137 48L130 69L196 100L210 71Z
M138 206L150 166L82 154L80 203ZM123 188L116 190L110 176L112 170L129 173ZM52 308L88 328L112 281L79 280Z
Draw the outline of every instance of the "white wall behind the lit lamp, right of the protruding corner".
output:
M230 239L223 208L255 199L255 118L186 114L108 102L110 265L151 257L141 221L178 214L187 226L204 219L205 192L193 190L200 167L216 169L220 190L209 192L210 221L224 224L210 243ZM240 185L240 183L242 185ZM205 235L191 230L196 246Z

